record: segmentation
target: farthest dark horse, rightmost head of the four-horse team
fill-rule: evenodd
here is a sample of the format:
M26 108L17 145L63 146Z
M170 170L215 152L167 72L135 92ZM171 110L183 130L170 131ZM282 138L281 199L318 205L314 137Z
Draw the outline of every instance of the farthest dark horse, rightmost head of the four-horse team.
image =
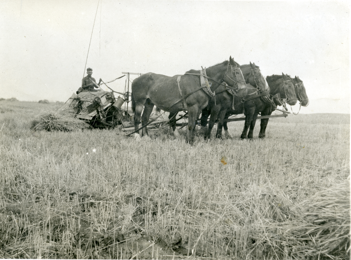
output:
M295 94L297 96L297 99L300 101L300 107L308 106L310 101L307 97L306 89L302 80L300 80L298 76L295 76L295 78L292 79L292 83L294 84ZM278 99L274 99L274 105L275 107L280 106L281 102L279 102ZM275 107L273 107L273 105L270 108L266 107L264 111L261 112L261 115L271 115L272 112L275 110ZM260 133L258 135L259 138L266 137L266 128L267 128L268 121L269 121L269 118L261 119L261 128L260 128Z

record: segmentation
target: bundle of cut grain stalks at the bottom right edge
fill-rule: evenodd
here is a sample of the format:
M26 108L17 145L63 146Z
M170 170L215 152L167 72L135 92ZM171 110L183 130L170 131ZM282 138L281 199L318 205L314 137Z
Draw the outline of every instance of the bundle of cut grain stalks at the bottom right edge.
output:
M313 241L316 254L333 259L350 254L350 182L317 192L303 202L305 234ZM311 242L312 242L311 241Z

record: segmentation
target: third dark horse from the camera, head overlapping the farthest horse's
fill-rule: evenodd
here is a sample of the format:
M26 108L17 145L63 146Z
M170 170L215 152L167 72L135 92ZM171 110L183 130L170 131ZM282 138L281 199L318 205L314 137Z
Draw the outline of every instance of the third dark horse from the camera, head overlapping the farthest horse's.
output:
M279 93L280 98L286 99L288 104L291 104L291 105L296 104L297 98L294 91L293 82L288 75L284 75L284 73L282 73L281 76L279 75L267 76L266 80L270 86L269 95L271 96L271 98L274 95ZM250 95L252 95L252 97L250 97ZM257 97L255 98L255 96ZM234 106L234 110L233 109L227 110L227 113L225 114L224 119L218 119L219 122L217 125L216 137L221 138L222 126L223 126L225 130L225 135L227 137L232 138L231 134L228 131L227 122L225 120L229 117L229 115L244 113L245 125L244 125L243 133L241 134L241 138L253 139L253 129L256 124L257 115L259 112L264 111L266 107L272 106L273 101L271 98L269 99L265 98L264 95L259 96L257 93L257 90L251 87L251 90L248 92L247 97L243 99L244 102L237 101L237 104ZM206 121L205 121L205 118L206 118L206 111L204 114L204 118L203 116L201 116L202 126L205 126L206 124L207 118L206 118ZM247 130L249 129L249 127L250 127L249 134L247 134Z

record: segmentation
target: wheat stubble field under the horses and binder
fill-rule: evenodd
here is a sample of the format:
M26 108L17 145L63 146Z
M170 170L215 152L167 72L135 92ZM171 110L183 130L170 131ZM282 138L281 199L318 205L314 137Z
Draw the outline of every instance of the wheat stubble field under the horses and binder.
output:
M349 114L189 146L30 129L58 107L0 101L1 258L350 259Z

